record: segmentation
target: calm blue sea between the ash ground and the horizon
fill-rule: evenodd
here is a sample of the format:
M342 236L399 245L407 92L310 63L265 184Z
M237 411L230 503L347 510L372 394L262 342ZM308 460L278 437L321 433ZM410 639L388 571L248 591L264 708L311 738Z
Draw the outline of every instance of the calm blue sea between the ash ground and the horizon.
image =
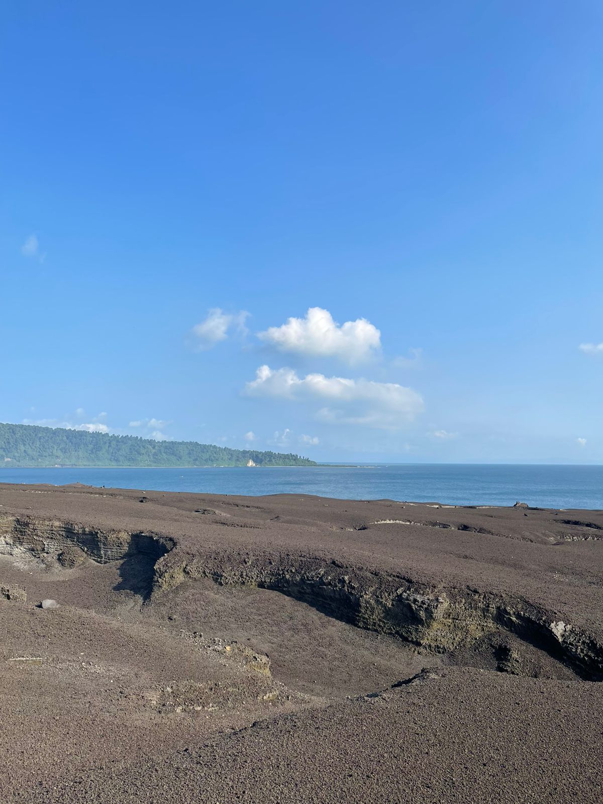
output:
M0 482L207 494L318 494L456 505L603 508L603 466L394 464L274 469L2 469Z

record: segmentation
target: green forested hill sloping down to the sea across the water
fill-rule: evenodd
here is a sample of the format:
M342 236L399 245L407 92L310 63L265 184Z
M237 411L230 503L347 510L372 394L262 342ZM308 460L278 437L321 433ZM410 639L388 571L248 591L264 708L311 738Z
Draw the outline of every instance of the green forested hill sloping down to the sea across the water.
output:
M292 453L229 449L197 441L152 441L81 430L0 424L2 466L316 466ZM0 475L0 478L2 475Z

